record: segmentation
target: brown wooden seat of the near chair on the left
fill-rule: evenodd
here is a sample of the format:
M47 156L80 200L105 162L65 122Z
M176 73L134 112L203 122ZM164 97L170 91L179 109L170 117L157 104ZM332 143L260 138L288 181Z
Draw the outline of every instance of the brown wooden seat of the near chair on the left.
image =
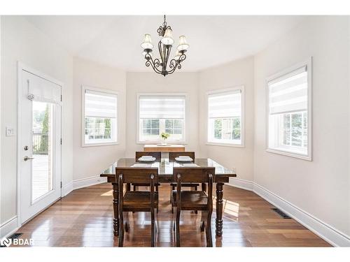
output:
M158 194L155 192L155 208L158 207ZM151 192L126 191L123 198L124 210L141 210L151 208Z

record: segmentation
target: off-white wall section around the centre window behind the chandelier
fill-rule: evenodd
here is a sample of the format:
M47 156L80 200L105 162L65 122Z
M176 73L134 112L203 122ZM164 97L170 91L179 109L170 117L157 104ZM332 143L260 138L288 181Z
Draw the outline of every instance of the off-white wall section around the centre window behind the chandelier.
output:
M152 69L150 68L150 71ZM137 93L186 93L186 150L198 152L198 74L174 73L163 77L150 73L127 73L127 147L126 157L134 157L143 145L137 138ZM196 156L197 157L197 156Z

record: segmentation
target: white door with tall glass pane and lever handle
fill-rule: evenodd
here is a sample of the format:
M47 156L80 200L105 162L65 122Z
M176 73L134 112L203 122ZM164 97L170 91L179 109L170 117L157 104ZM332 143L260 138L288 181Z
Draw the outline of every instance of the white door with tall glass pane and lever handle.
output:
M61 86L19 71L20 223L61 197Z

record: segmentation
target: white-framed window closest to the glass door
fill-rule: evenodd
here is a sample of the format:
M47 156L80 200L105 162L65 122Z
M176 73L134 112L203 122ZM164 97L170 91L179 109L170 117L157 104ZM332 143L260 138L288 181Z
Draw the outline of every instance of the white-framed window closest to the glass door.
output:
M83 87L82 145L117 143L118 95L111 90Z

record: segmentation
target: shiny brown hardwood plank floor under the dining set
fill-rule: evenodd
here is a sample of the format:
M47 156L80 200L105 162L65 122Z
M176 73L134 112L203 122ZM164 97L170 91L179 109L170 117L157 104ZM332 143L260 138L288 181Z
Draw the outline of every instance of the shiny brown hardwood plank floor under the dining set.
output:
M160 187L158 247L174 247L169 187ZM215 237L215 201L212 221L216 247L330 247L297 223L282 219L267 201L251 191L225 186L223 236ZM181 246L205 247L200 232L200 212L181 212ZM149 213L130 213L130 232L125 247L151 246ZM113 236L111 184L78 189L22 226L21 238L32 238L35 246L116 247Z

